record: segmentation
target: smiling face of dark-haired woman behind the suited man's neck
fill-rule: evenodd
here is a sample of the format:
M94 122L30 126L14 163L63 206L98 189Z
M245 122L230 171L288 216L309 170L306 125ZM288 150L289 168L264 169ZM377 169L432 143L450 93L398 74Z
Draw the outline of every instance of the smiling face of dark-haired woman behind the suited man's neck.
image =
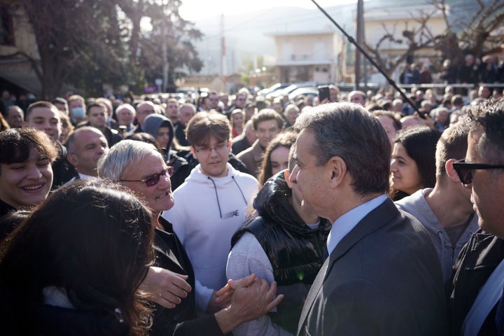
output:
M411 195L423 188L416 162L407 155L402 144L395 143L391 162L391 187Z

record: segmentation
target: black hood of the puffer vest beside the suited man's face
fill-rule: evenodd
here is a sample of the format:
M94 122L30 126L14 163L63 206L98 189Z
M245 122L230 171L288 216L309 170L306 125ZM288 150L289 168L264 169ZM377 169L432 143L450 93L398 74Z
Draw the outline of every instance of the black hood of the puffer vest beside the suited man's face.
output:
M312 232L290 205L291 196L292 190L285 181L284 172L279 172L260 188L253 201L253 207L258 211L258 215L269 223L279 223L297 232ZM325 224L325 221L321 219L320 228L323 228Z

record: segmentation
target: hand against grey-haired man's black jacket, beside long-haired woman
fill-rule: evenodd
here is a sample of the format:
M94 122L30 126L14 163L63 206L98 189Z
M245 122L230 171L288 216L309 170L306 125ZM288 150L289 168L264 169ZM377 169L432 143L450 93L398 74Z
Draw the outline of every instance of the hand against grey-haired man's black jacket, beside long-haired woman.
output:
M187 279L187 275L160 267L149 267L141 288L148 293L149 300L172 309L192 290Z

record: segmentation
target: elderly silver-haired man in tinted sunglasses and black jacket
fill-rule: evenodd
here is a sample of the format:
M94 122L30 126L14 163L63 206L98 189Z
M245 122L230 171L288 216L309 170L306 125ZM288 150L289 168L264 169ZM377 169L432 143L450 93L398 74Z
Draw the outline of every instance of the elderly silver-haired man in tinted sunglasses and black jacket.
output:
M174 225L160 216L162 211L174 207L169 179L173 173L173 167L167 166L156 148L141 141L120 141L104 153L98 164L102 179L123 184L151 209L156 268L151 267L142 286L150 293L149 299L158 304L149 334L223 336L241 323L266 314L283 295L273 299L275 283L269 286L264 279L247 276L223 283L226 286L220 293L227 293L230 300L221 301L223 309L198 318L196 300L204 288L195 281L193 265L173 231ZM172 281L172 286L156 286L162 282L160 278L169 278L166 281Z

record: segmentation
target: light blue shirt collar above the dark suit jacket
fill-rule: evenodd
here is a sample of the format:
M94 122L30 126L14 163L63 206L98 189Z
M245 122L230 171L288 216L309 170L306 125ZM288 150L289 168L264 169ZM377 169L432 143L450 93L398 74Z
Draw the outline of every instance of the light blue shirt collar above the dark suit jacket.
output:
M353 228L355 228L367 214L385 202L386 198L386 195L375 197L337 218L337 220L332 223L332 228L329 232L327 241L328 253L330 254L335 249L339 241L341 241Z

